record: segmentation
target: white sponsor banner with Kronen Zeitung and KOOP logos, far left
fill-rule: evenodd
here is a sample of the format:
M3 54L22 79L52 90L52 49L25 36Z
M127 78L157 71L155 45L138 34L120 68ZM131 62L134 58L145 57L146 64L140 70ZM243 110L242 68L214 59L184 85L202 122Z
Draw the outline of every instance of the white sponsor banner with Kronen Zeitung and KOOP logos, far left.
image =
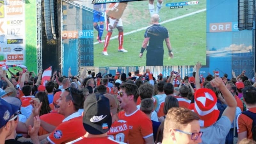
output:
M0 0L0 61L7 65L26 65L25 5L22 0Z

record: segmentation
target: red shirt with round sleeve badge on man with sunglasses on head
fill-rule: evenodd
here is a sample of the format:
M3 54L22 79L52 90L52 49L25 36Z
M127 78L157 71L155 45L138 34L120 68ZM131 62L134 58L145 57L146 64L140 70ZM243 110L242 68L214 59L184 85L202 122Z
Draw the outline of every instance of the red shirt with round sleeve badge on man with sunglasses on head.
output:
M47 137L51 143L67 143L83 136L86 133L83 126L83 117L75 112L65 118L62 123Z

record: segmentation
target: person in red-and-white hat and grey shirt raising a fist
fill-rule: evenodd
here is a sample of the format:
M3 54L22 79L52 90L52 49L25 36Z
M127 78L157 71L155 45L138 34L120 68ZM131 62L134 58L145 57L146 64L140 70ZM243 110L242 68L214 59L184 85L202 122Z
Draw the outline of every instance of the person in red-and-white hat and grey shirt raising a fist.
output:
M226 136L235 117L236 100L225 87L220 77L214 78L210 83L212 87L216 87L220 90L228 105L222 113L222 116L217 121L220 111L216 105L217 96L211 89L202 88L196 90L194 94L195 105L193 110L200 117L201 131L204 132L202 143L225 143Z

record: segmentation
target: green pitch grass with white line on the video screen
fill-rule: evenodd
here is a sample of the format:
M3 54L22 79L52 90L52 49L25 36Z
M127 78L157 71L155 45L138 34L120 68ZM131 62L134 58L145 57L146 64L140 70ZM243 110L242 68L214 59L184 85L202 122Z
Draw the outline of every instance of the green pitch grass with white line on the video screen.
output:
M163 7L159 12L161 22L183 16L206 8L206 1L200 1L198 5L183 6L179 9L170 9L165 4L173 0L164 0ZM154 2L156 7L156 2ZM131 32L151 25L148 12L148 1L129 2L122 16L124 33ZM188 17L179 18L162 24L169 31L174 57L168 60L168 49L164 41L164 66L194 65L196 61L206 64L206 11L202 11ZM105 25L104 25L105 26ZM146 53L139 58L140 48L144 40L145 30L132 32L124 36L124 49L128 53L118 52L118 39L109 41L108 56L102 55L104 42L94 44L94 66L145 66ZM97 31L94 30L94 42L97 42ZM104 27L102 40L107 31ZM113 30L112 36L118 35L117 29Z

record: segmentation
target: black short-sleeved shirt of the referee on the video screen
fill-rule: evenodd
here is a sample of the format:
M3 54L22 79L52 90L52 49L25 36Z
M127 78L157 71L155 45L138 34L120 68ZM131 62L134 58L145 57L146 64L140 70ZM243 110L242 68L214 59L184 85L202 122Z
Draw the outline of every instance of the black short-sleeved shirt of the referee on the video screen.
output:
M157 49L157 48L164 48L163 42L164 39L169 38L168 30L158 24L151 25L146 29L144 33L145 38L150 38L148 49Z

